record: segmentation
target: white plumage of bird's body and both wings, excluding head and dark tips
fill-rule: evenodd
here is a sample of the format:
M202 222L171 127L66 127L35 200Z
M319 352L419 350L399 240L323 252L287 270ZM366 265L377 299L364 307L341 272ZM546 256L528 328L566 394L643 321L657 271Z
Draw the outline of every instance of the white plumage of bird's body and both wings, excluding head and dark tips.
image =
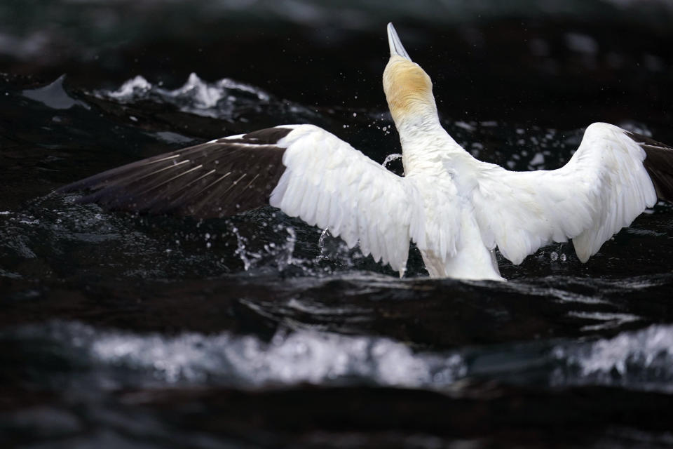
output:
M400 274L410 239L433 277L502 280L496 247L519 264L541 246L569 239L586 262L657 201L644 150L607 123L587 128L566 166L534 172L478 161L442 129L432 139L427 132L409 136L415 143L402 147L405 177L321 128L292 128L278 142L287 148L287 169L271 206L329 227L349 247L359 242Z

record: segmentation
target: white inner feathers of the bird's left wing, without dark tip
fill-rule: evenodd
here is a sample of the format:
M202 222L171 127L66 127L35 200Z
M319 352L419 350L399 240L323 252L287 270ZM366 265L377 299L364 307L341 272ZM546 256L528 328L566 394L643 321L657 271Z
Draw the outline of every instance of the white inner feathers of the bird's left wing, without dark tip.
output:
M329 228L349 248L402 274L409 255L412 216L419 209L413 182L386 170L335 135L313 125L278 141L286 169L269 203L309 225Z

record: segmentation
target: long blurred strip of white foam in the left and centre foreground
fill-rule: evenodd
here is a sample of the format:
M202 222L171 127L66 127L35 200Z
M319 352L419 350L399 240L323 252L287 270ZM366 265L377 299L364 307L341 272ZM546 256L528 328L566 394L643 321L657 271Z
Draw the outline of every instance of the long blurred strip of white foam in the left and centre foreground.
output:
M397 387L441 387L465 373L462 358L456 354L416 353L388 338L313 330L280 332L265 342L252 335L182 333L167 337L55 322L47 328L22 328L19 334L23 339L47 337L78 357L84 356L97 372L97 382L113 388L129 377L142 384L208 381L263 387L359 380Z

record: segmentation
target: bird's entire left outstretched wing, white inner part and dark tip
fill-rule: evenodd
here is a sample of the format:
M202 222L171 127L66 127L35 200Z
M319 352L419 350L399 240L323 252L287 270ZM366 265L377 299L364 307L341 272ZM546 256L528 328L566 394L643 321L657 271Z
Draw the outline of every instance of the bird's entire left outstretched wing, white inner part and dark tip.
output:
M403 272L419 227L412 182L312 125L212 140L58 189L115 210L224 217L265 204L329 227L349 247Z

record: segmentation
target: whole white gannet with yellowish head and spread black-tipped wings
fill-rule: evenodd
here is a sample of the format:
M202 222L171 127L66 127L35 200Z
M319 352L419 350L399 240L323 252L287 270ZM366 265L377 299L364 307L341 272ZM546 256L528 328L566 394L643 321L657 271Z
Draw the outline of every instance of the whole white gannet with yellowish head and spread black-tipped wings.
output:
M400 272L409 241L431 277L504 280L495 249L514 264L573 240L587 262L657 199L673 199L673 148L593 123L557 170L513 172L475 159L440 125L430 76L392 24L383 91L405 176L310 124L211 140L93 175L59 189L118 210L224 217L280 208L329 228L349 248Z

